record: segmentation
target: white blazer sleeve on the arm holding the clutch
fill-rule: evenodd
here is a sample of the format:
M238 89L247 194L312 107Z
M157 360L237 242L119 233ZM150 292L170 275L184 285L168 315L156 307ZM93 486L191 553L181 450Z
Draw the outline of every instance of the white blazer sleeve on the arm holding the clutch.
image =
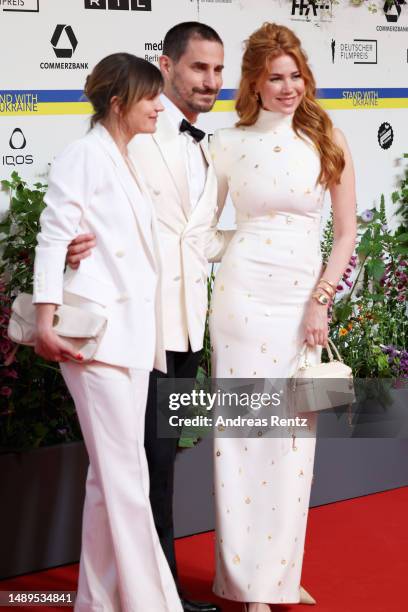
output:
M69 145L53 162L34 260L34 303L62 304L68 245L95 192L100 164L87 142Z

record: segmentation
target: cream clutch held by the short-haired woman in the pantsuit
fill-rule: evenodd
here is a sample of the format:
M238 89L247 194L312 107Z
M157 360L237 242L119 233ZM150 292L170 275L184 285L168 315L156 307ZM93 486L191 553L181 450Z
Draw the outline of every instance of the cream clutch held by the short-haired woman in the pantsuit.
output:
M29 293L20 293L12 304L8 336L17 344L35 344L36 312L32 300ZM106 325L105 317L76 306L57 306L54 314L54 331L81 353L81 363L93 359Z

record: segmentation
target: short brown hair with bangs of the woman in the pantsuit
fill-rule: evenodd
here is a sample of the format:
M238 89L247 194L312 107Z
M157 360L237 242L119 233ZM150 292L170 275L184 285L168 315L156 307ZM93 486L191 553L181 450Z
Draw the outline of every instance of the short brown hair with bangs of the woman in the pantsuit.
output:
M111 99L117 96L124 114L142 98L153 98L163 89L156 66L130 53L113 53L98 62L85 82L84 93L93 106L91 127L105 119Z

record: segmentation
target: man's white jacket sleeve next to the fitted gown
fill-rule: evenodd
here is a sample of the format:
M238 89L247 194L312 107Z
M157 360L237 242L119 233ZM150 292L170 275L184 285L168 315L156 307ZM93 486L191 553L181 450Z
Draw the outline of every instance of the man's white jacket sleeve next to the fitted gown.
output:
M231 238L235 234L235 230L217 229L218 220L224 209L229 189L227 159L224 152L224 145L222 144L221 132L222 130L217 130L210 143L210 155L217 178L217 208L205 247L207 259L211 263L221 261Z

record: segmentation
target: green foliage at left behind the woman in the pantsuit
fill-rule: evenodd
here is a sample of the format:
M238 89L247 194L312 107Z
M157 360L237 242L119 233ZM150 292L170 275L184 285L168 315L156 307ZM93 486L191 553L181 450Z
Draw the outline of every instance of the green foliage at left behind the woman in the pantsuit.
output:
M12 299L32 292L39 217L46 185L31 189L16 172L1 182L10 208L0 220L0 450L23 450L81 439L59 368L7 337Z

